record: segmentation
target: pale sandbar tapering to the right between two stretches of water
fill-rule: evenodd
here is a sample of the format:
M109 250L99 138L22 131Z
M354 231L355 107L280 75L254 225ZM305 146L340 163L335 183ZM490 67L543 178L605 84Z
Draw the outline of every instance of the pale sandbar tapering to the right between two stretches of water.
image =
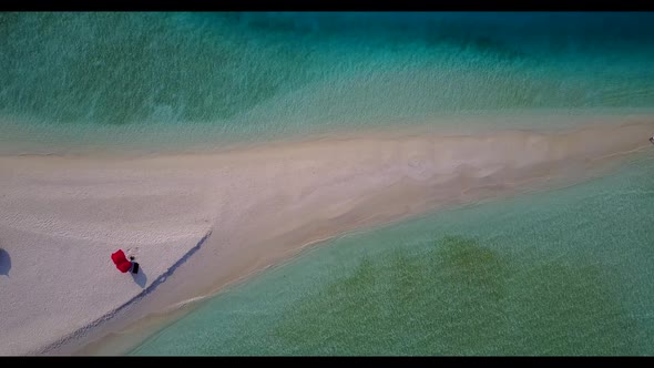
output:
M0 248L11 268L2 259L0 355L72 354L307 244L581 180L654 149L653 132L654 119L642 119L565 133L371 135L132 160L2 156ZM111 262L119 248L141 264L135 278Z

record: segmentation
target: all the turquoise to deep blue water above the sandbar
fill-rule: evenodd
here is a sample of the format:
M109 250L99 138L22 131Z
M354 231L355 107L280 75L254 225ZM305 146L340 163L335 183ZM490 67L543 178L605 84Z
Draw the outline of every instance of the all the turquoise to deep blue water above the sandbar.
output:
M651 109L651 13L2 13L0 153ZM530 124L524 122L523 124Z

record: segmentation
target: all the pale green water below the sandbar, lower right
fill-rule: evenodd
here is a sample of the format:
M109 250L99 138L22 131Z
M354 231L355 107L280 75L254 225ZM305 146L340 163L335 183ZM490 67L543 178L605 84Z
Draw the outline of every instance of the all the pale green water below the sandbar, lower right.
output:
M341 237L130 355L652 355L654 156Z

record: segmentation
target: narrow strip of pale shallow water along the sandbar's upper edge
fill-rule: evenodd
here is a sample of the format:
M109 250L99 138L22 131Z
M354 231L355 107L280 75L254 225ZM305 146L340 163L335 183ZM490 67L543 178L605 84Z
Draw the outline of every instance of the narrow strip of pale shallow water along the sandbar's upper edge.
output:
M3 120L0 126L0 157L2 156L55 156L70 159L149 159L160 155L212 155L239 152L243 150L285 146L316 141L350 139L395 139L409 135L478 135L492 134L499 130L527 130L551 133L570 131L597 122L612 124L615 121L642 122L654 116L653 109L530 109L529 111L469 111L442 112L407 121L389 120L376 124L352 126L330 125L326 129L310 129L296 134L270 135L274 129L264 129L256 137L225 135L206 122L143 123L133 125L81 125L74 130L62 130L64 125L32 122L13 117ZM438 124L435 124L438 121ZM530 122L524 126L524 122ZM182 144L177 145L182 140ZM143 147L147 142L149 147Z

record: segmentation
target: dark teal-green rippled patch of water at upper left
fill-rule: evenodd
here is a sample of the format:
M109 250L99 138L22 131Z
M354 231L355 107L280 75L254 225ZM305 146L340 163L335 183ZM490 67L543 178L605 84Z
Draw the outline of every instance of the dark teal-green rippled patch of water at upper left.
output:
M53 123L215 122L306 78L306 53L180 18L1 14L0 112Z

